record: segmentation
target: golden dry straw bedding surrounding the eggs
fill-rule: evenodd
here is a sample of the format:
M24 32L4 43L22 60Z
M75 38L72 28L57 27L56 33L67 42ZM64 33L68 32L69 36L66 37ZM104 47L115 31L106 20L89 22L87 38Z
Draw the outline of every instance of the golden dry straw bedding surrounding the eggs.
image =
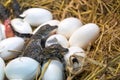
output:
M5 2L5 0L1 0ZM77 17L96 23L100 36L86 50L88 64L73 80L120 80L120 0L18 0L22 8L40 7L54 19Z

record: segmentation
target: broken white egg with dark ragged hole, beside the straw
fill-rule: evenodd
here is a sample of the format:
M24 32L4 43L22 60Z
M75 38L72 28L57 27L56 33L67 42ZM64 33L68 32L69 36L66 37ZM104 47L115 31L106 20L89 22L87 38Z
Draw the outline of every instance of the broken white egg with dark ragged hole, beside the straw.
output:
M68 53L64 55L64 59L67 65L71 65L70 61L73 61L73 65L72 65L73 68L80 67L82 61L79 61L76 57L74 57L74 55L80 56L82 59L86 56L85 51L80 47L70 47ZM77 62L74 61L73 59L77 60Z

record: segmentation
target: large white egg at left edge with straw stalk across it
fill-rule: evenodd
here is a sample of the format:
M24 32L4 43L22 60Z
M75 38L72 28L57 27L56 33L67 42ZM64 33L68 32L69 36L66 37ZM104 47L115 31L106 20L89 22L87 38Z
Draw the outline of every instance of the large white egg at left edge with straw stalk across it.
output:
M4 60L15 58L18 53L11 51L21 51L24 46L24 39L20 37L11 37L0 42L0 57Z

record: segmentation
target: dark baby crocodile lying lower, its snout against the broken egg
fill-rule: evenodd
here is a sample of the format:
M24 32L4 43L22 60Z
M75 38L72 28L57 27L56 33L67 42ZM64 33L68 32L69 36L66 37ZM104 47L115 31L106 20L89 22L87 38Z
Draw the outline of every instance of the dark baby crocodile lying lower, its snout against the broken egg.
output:
M49 59L59 59L62 63L65 63L64 55L67 52L68 52L68 49L63 48L60 44L53 44L42 50L42 55L40 56L40 59L42 59L41 61L43 62L46 62Z

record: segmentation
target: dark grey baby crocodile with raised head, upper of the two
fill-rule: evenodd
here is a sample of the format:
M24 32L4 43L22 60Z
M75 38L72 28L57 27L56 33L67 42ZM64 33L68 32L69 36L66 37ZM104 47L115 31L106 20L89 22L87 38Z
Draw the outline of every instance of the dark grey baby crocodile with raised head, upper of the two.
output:
M30 39L28 44L23 50L23 56L31 57L40 62L39 56L42 54L41 41L46 40L50 35L51 31L56 29L57 26L44 25L42 26Z

